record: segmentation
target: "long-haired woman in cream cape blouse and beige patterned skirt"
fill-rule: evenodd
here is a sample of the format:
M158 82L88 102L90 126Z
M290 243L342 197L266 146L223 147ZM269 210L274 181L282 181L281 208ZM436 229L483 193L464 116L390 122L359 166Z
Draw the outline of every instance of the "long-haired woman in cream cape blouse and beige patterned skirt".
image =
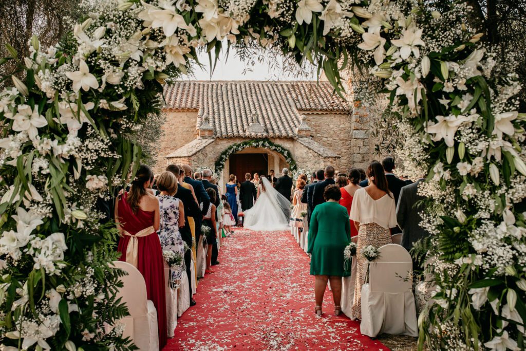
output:
M372 162L366 174L369 185L356 190L349 215L358 229L355 297L351 319L361 319L361 288L365 283L368 265L367 259L361 255L361 250L369 245L379 248L392 244L389 228L397 225L395 198L389 192L382 165L376 161Z

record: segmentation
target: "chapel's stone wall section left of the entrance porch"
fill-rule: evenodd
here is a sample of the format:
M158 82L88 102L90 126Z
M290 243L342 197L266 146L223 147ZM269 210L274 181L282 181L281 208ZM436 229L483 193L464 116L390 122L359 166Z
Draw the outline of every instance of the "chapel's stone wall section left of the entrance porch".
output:
M163 126L164 136L159 140L159 154L154 165L154 173L164 171L166 156L179 147L196 138L197 111L166 110L166 123Z

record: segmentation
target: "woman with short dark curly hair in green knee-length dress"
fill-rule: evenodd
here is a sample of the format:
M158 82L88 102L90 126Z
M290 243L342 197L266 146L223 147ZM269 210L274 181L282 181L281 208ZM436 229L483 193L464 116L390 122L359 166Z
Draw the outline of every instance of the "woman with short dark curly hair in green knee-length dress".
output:
M315 313L321 316L323 294L330 279L334 313L341 313L341 277L350 272L343 269L343 249L351 242L351 226L347 209L338 201L341 197L338 185L329 185L323 192L326 203L316 206L310 218L309 247L311 254L310 274L316 276L314 293Z

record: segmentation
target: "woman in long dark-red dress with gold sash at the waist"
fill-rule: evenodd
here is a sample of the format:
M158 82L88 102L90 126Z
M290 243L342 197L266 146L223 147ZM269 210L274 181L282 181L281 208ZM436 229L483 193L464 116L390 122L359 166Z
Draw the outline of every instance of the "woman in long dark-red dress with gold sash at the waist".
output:
M163 249L157 235L159 200L147 189L153 173L141 165L129 192L115 204L121 261L134 265L146 282L146 293L157 310L159 349L166 345L166 296Z

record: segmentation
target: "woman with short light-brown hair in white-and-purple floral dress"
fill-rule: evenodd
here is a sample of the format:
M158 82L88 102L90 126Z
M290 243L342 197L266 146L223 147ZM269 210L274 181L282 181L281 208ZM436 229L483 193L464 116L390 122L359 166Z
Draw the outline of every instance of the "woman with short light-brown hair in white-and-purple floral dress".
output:
M157 234L163 251L170 250L181 255L181 264L178 267L170 267L168 285L174 288L177 281L185 273L185 242L179 233L179 227L185 225L185 213L183 202L173 197L177 193L177 178L171 172L163 172L157 179L157 187L160 194L159 199L160 224Z

